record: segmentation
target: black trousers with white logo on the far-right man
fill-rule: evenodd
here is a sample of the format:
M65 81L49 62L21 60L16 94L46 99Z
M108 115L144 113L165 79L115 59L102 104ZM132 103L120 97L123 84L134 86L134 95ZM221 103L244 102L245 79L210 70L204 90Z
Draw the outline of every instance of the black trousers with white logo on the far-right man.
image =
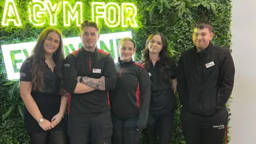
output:
M210 117L194 115L182 108L180 118L187 144L222 144L228 121L226 107Z

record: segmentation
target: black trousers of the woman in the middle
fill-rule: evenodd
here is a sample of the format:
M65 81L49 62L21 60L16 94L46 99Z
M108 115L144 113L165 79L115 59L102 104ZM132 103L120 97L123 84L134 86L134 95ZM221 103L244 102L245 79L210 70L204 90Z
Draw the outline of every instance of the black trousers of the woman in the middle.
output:
M138 116L129 119L113 117L114 144L139 144L142 131L137 131Z

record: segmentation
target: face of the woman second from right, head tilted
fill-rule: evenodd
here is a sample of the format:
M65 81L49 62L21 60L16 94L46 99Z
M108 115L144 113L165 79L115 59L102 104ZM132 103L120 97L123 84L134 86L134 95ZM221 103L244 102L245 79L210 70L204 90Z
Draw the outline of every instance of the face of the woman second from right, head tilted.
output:
M160 53L163 49L162 38L159 35L154 35L153 38L148 42L148 50L151 53Z

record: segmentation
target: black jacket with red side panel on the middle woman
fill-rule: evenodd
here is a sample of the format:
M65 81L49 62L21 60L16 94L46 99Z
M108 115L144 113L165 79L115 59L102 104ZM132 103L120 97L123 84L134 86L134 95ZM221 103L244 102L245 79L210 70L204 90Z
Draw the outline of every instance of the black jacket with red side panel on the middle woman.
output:
M139 116L137 129L143 130L148 120L150 102L150 79L147 70L131 60L115 63L117 82L109 93L111 115L126 119Z

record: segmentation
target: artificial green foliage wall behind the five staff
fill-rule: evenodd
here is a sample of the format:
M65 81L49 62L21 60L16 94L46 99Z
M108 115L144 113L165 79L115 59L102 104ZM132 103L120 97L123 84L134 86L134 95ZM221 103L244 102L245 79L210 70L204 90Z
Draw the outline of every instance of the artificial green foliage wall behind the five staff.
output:
M83 4L84 19L91 19L91 3L87 0L80 0ZM4 10L4 2L0 2L0 15ZM28 21L28 3L31 1L15 1L22 21L22 27L0 28L0 45L23 42L34 42L42 27L31 26ZM52 1L58 2L58 1ZM72 1L70 1L72 2ZM98 1L100 2L100 0ZM109 1L110 2L110 1ZM122 1L113 0L121 4ZM141 58L141 51L145 45L146 38L153 32L162 32L169 41L169 52L175 62L178 63L181 53L193 46L191 34L192 27L197 20L211 21L213 24L214 44L229 48L231 44L230 22L231 22L231 1L230 0L139 0L131 2L138 7L137 21L139 27L134 28L108 28L101 23L101 34L115 33L119 31L132 30L133 38L137 44L135 60ZM58 14L58 15L61 15ZM62 17L62 16L60 16ZM63 27L58 24L64 37L78 36L78 28L75 25ZM178 100L178 97L177 97ZM19 94L19 82L8 81L0 49L0 143L28 143L28 136L23 129L23 103ZM228 105L228 104L227 104ZM172 143L185 143L181 124L179 120L180 103L178 101L175 111L175 128ZM229 110L229 109L228 109ZM230 115L230 114L229 114ZM230 138L228 139L229 142ZM142 135L141 143L145 139ZM224 142L223 142L224 143Z

